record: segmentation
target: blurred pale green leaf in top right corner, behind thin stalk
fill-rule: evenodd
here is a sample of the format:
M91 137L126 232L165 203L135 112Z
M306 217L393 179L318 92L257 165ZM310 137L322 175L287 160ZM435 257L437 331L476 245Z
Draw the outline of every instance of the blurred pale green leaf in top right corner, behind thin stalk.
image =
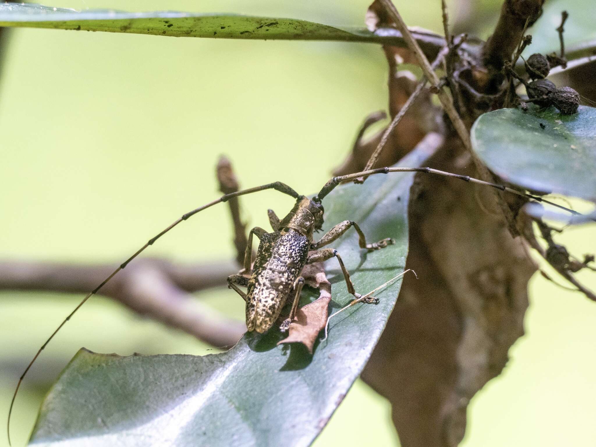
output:
M596 49L594 26L594 0L549 0L545 2L542 16L529 29L532 44L524 51L524 57L532 53L559 54L560 44L556 29L561 24L561 12L567 11L565 22L565 49L569 60L592 56Z

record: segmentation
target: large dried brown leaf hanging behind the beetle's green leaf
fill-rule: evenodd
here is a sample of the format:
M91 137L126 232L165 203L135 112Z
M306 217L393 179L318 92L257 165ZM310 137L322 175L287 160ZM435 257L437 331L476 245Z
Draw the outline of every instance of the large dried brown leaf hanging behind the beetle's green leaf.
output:
M429 166L474 175L450 141ZM403 447L454 447L470 399L507 363L523 334L536 268L504 216L479 206L483 190L418 175L410 198L405 278L362 378L392 403ZM521 222L521 221L520 221ZM520 223L521 225L521 223Z

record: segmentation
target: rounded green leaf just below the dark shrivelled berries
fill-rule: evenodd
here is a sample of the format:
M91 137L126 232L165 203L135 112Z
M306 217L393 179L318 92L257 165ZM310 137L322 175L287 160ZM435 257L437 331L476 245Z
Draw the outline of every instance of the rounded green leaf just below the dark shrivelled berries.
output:
M554 107L502 108L476 120L471 141L486 166L508 182L596 201L596 108L581 105L573 115Z

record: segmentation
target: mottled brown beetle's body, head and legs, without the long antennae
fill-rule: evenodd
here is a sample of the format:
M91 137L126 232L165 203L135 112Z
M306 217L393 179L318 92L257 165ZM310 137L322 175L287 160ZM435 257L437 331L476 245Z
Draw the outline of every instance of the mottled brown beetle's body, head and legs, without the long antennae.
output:
M284 185L285 187L285 185ZM308 197L298 195L288 188L283 191L296 198L296 204L281 221L273 210L269 210L269 222L274 232L268 233L255 226L249 233L249 243L244 254L244 268L238 275L228 277L230 288L240 294L246 301L246 327L249 331L263 333L274 325L281 309L288 297L293 298L290 316L281 324L280 330L286 331L294 319L300 300L300 292L304 285L304 278L300 276L303 267L313 262L322 262L337 257L346 280L347 291L356 298L361 297L350 280L346 266L337 250L323 249L312 254L309 250L317 250L337 240L344 232L353 226L358 232L361 249L378 250L393 244L393 239L387 238L374 244L367 244L364 233L352 221L343 221L328 231L318 242L313 243L313 233L319 231L323 225L323 206ZM294 195L295 194L295 195ZM259 249L250 278L247 274L252 265L253 235L260 240ZM247 286L244 293L238 285ZM374 302L370 297L367 302Z

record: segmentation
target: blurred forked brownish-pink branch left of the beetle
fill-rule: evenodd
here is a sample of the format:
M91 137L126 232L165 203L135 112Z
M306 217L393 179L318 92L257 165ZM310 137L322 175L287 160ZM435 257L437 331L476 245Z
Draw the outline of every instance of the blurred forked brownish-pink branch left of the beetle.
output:
M132 311L185 331L213 346L228 346L246 331L242 322L217 317L190 293L226 284L235 262L174 264L139 259L107 283L101 293ZM0 262L0 290L87 293L113 270L113 265Z

